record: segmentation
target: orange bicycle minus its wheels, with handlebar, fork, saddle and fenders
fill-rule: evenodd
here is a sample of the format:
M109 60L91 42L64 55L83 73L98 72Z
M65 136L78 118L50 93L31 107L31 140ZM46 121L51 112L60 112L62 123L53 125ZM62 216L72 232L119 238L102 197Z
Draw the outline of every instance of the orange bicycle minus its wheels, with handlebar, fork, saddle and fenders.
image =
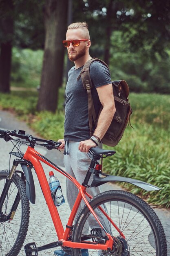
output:
M44 157L43 155L41 155L40 153L38 153L37 151L35 151L34 146L36 144L36 141L40 141L40 142L44 142L44 144L39 144L42 146L46 146L47 149L53 149L53 148L57 148L59 142L56 141L51 141L51 140L44 140L44 139L40 139L40 138L35 138L32 137L32 135L25 135L25 132L20 130L19 133L16 133L16 130L9 132L9 131L4 131L4 130L0 130L0 134L1 134L1 138L4 138L6 141L9 141L11 139L11 136L16 136L19 137L21 139L26 139L26 141L29 141L29 146L26 149L25 154L23 155L22 153L14 153L11 152L11 154L15 155L16 157L19 157L20 159L15 159L13 161L13 166L11 168L11 171L9 172L9 175L6 178L6 183L4 185L4 189L2 191L2 194L0 196L0 213L1 213L1 221L3 222L4 220L9 220L9 222L11 220L13 220L13 216L15 215L15 211L18 207L18 203L19 203L19 192L16 195L16 198L14 200L13 206L11 207L11 211L8 214L8 216L3 215L3 212L1 211L2 206L4 204L4 200L6 198L6 196L8 195L8 191L10 188L11 183L13 182L13 175L15 172L20 173L21 174L21 178L24 182L26 182L26 196L27 198L32 202L35 203L35 187L34 187L34 181L33 181L33 175L31 172L31 168L35 168L35 172L37 174L39 183L40 183L40 187L42 189L42 193L44 195L44 198L46 200L46 204L49 208L50 214L51 214L51 218L53 220L53 224L58 236L58 240L57 242L53 242L51 244L48 245L44 245L41 247L36 247L35 243L29 243L27 245L25 245L25 252L26 255L38 255L38 251L44 250L44 249L48 249L48 248L53 248L53 247L57 247L57 246L63 246L63 247L70 247L70 248L84 248L84 249L95 249L95 250L106 250L109 251L112 248L114 248L114 236L111 236L110 234L108 234L107 230L105 229L105 227L102 225L102 222L100 221L100 217L98 218L97 214L93 211L90 203L88 202L88 200L86 199L86 197L88 198L92 198L90 194L88 194L86 192L86 187L93 187L93 186L99 186L101 184L104 184L106 182L117 182L117 181L121 181L121 182L128 182L131 184L134 184L135 186L139 186L147 191L151 191L151 190L159 190L158 187L153 186L151 184L148 184L146 182L142 182L139 180L134 180L134 179L130 179L130 178L126 178L126 177L119 177L119 176L113 176L113 175L106 175L104 173L101 173L98 170L98 160L103 157L103 155L109 156L109 155L113 155L115 154L115 151L113 150L102 150L102 149L97 149L97 148L91 148L89 151L93 154L93 159L91 161L91 165L88 168L86 177L84 179L84 182L81 184L79 184L79 182L77 182L77 180L75 178L73 178L71 175L69 175L68 173L66 173L66 171L62 170L59 166L57 166L56 164L54 164L53 162L51 162L49 159L47 159L46 157ZM38 143L37 143L38 144ZM19 144L20 145L20 144ZM19 149L19 148L18 148ZM21 151L20 151L21 152ZM68 222L66 225L66 229L64 230L63 225L62 225L62 221L60 219L59 213L57 211L57 208L54 205L52 196L51 196L51 191L49 188L49 183L47 181L46 175L44 173L44 169L42 167L41 162L43 162L44 164L48 165L49 167L53 168L55 171L58 171L59 173L61 173L62 175L64 175L66 178L68 178L69 180L71 180L71 182L73 182L73 184L77 187L77 189L79 190L79 193L77 195L77 199L75 200L75 204L73 206L73 209L71 211L71 214L68 218ZM16 168L18 166L18 164L21 164L22 170L21 171L16 171ZM94 179L93 182L91 182L90 185L88 185L89 179L91 177L91 175L94 175ZM105 177L99 177L99 173L103 174ZM6 171L7 174L7 171ZM24 186L24 184L23 184ZM96 222L98 222L98 225L102 228L102 230L105 232L106 236L104 239L99 240L98 242L96 242L95 240L92 240L93 242L91 242L91 238L89 239L89 241L85 241L83 242L72 242L71 239L71 230L73 228L73 221L75 219L77 210L80 206L80 203L82 201L82 199L84 200L86 206L88 207L88 209L90 210L90 212L92 213L92 215L94 216ZM119 235L121 236L121 238L123 238L124 240L126 239L124 234L121 232L121 230L117 227L117 225L115 225L115 223L113 222L113 220L108 216L108 214L106 213L106 211L101 207L98 206L97 209L99 209L99 211L101 211L101 213L108 219L108 222L110 222L111 225L113 225L113 227L115 228L115 230L119 233ZM76 226L76 232L77 232L77 227ZM87 236L88 238L88 236ZM103 243L102 243L103 242ZM31 247L33 246L33 247ZM37 254L32 254L31 252L35 252ZM31 253L31 254L30 254Z

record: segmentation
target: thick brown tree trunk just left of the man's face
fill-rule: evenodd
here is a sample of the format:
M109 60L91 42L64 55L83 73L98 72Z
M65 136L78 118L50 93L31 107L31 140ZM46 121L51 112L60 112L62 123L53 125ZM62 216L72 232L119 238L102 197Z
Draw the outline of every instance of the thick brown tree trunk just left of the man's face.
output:
M45 47L38 111L55 112L58 89L62 84L64 47L66 36L68 0L46 0L45 4Z

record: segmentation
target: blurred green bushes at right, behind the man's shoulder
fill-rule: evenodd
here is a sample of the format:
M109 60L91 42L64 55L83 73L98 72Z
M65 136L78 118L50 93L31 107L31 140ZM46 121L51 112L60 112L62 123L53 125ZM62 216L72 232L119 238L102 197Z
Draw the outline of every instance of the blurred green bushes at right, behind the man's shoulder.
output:
M158 53L148 57L144 55L148 45L130 52L126 39L121 31L112 34L109 65L112 79L126 80L131 92L170 93L170 51L166 50L166 58Z

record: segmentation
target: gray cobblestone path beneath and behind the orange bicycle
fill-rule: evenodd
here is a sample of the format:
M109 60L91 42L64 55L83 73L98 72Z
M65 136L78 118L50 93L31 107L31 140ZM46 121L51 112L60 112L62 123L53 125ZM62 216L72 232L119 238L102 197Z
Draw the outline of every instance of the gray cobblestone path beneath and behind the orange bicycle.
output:
M1 129L22 129L26 130L26 134L34 134L32 130L26 126L25 123L18 121L15 119L14 115L12 115L9 112L0 111L0 128ZM34 134L35 135L35 134ZM58 139L58 138L56 138ZM13 148L11 142L5 142L4 140L0 140L0 169L7 169L9 168L9 155L8 153ZM24 146L23 146L24 151ZM63 166L63 154L60 153L57 150L51 150L48 151L42 147L38 147L37 151L45 155L48 159L50 159L52 162L56 163L59 166ZM13 157L14 158L14 157ZM11 159L12 162L12 159ZM46 173L46 177L49 178L49 171L51 171L51 168L48 166L45 166L42 164ZM20 169L20 168L18 168ZM66 193L65 193L65 177L62 176L60 173L56 173L56 176L60 180L60 184L63 188L63 194L64 198L66 199ZM44 197L42 195L42 191L38 182L38 179L36 177L35 172L33 171L33 177L35 181L35 190L36 190L36 202L35 204L30 204L30 222L29 222L29 231L26 235L26 240L24 242L24 245L26 243L36 242L36 245L39 247L41 245L45 245L47 243L52 243L54 241L57 241L57 236L55 233L55 230L53 228L53 222L51 220L51 216L49 214L48 207L46 205L46 202L44 200ZM110 190L110 189L120 189L118 186L115 186L113 184L106 184L104 186L103 190ZM154 209L159 216L161 223L164 227L166 238L167 238L167 244L168 244L168 256L170 256L170 210L167 209ZM70 214L70 209L68 207L67 202L63 204L62 206L58 207L58 211L61 216L61 220L63 225L66 225L66 220L68 220L68 216ZM52 256L54 252L54 249L49 249L46 251L39 252L40 256ZM25 256L24 248L20 251L19 256ZM147 256L147 255L146 255Z

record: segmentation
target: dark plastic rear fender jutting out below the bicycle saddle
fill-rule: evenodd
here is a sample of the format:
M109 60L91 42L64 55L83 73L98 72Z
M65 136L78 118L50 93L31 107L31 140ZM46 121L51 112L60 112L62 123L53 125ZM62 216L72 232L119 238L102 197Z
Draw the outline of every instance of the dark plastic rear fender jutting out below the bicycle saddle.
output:
M127 182L132 185L138 186L141 189L144 189L146 191L152 191L152 190L160 190L157 186L153 186L149 183L143 182L141 180L134 180L126 177L121 176L114 176L114 175L108 175L106 177L99 177L98 174L94 175L93 182L91 183L91 187L100 186L106 182Z

